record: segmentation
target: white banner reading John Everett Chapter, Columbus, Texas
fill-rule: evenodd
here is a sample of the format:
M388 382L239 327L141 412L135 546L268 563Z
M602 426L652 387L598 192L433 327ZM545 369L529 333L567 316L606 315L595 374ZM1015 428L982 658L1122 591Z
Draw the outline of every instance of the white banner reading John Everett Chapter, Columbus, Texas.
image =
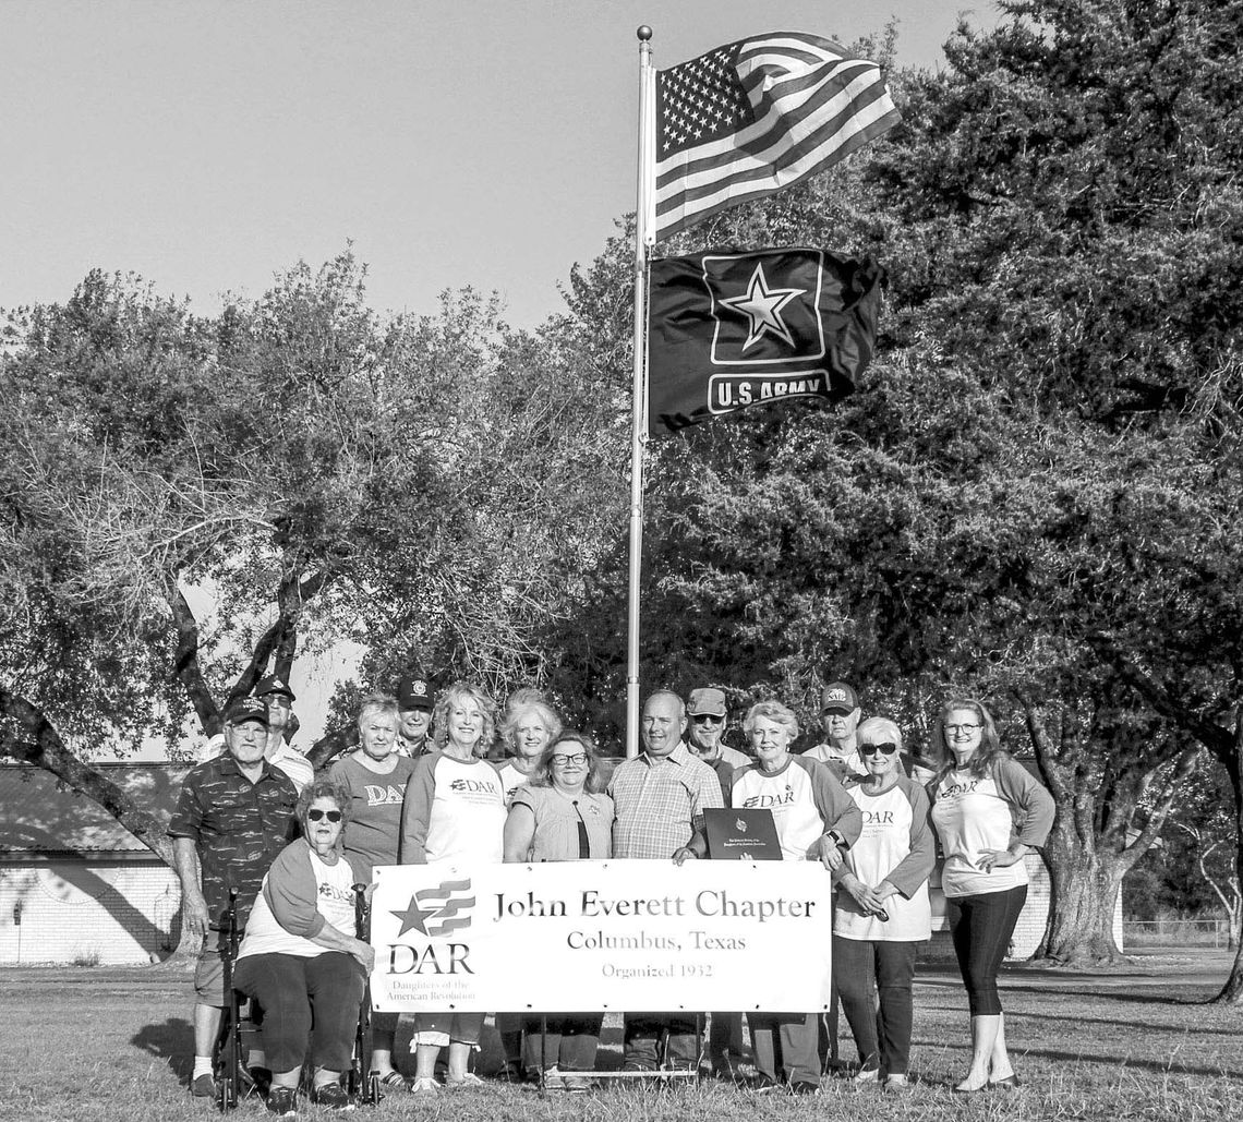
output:
M375 870L380 1011L828 1008L818 861L564 861Z

